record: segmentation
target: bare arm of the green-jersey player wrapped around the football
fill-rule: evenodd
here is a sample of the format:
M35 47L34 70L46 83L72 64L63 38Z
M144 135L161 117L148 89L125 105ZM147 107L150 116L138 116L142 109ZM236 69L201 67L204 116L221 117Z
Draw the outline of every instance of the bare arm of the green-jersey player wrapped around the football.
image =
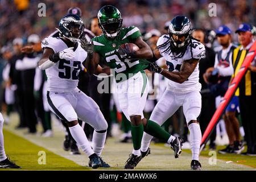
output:
M137 59L151 59L153 57L153 53L146 42L144 42L141 36L135 40L134 44L136 44L140 49L136 51L134 57Z

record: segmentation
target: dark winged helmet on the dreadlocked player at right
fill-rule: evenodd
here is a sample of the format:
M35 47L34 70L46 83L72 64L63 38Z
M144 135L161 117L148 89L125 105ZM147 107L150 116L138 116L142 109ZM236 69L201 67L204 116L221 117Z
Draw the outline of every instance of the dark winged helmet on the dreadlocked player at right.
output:
M170 34L172 47L181 48L187 46L189 43L192 32L192 24L186 16L176 16L171 20L168 27L168 32ZM177 35L179 37L184 36L185 40L183 42L175 41L172 35Z

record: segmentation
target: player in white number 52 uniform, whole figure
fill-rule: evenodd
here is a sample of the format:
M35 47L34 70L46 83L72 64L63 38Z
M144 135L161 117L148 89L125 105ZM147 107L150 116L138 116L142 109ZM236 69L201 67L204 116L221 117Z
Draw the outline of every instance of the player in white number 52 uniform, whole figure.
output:
M82 48L78 41L82 37L84 23L79 16L68 14L60 20L59 31L59 38L49 36L43 40L44 53L39 61L39 68L46 69L49 108L67 122L72 137L89 156L89 166L109 167L100 158L108 123L96 102L77 88L81 65L85 64L86 57L92 56L93 51ZM77 118L94 127L92 148Z

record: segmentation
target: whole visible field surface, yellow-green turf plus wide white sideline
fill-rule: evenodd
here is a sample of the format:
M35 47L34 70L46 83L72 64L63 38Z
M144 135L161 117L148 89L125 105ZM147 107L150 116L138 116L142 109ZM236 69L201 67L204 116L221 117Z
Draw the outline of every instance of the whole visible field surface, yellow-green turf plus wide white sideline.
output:
M11 125L4 126L5 149L10 159L22 167L18 170L92 170L88 167L88 158L85 154L71 155L63 150L64 132L61 125L53 124L54 137L42 138L39 135L24 135L26 130L15 130L16 115L11 119ZM173 151L164 144L151 143L150 147L151 154L144 158L135 170L190 169L190 150L183 150L180 158L175 159ZM223 147L220 146L218 149ZM131 143L118 143L118 138L108 138L102 158L112 167L93 170L123 170L131 150ZM46 164L38 163L39 151L46 152ZM209 155L209 151L201 152L200 162L203 170L256 170L256 157L220 155L217 152L215 154L216 163L211 164L209 161L212 161L212 156Z

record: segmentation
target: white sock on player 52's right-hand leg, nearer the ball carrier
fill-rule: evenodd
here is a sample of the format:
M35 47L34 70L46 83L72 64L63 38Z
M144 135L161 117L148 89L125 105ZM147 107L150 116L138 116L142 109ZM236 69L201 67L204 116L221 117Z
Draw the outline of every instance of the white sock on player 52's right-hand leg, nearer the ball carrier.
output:
M93 131L93 138L92 138L92 147L95 154L101 156L101 152L104 148L106 140L106 132L98 133L97 131Z

